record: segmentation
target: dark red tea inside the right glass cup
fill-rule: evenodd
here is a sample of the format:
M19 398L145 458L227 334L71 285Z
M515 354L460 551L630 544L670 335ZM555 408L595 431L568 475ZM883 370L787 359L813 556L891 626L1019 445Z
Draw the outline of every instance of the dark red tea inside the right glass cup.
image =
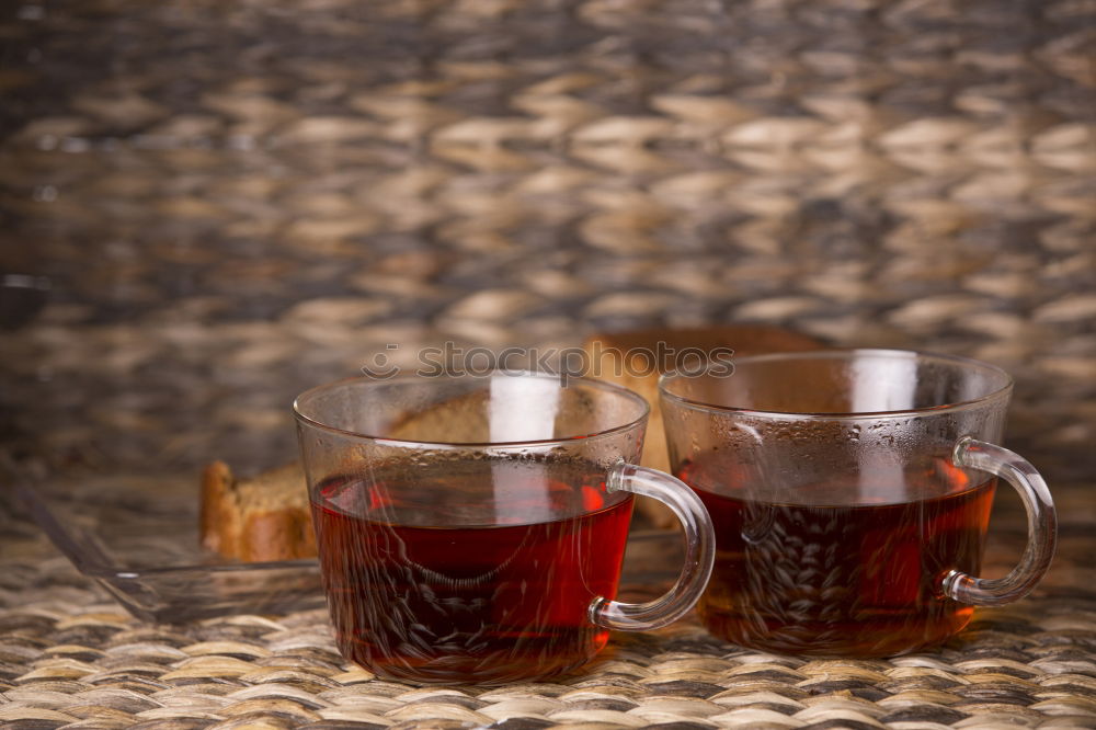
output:
M938 461L878 490L811 483L761 502L737 472L719 460L680 470L716 528L697 608L716 636L787 653L888 657L970 620L973 608L944 597L940 580L952 569L977 574L995 479L971 486ZM886 497L859 497L872 493Z

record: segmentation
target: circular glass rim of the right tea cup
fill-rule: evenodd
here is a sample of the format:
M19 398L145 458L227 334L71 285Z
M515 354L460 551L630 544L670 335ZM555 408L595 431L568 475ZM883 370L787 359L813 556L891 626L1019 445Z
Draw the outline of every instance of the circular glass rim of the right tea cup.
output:
M738 408L734 406L719 406L716 403L706 403L703 400L696 400L693 398L686 398L685 396L678 396L677 393L671 392L669 390L669 384L677 379L687 379L690 377L699 377L707 375L713 368L727 368L728 362L709 363L704 370L696 373L695 375L683 374L680 370L672 370L665 373L659 378L659 395L664 396L669 400L684 406L686 408L692 408L694 410L709 411L709 412L720 412L720 413L742 413L749 415L756 415L758 418L769 418L769 419L796 419L796 420L818 420L818 421L849 421L857 419L879 419L879 418L898 418L898 417L924 417L924 415L937 415L943 413L954 413L956 411L967 410L970 408L975 408L991 400L997 400L1005 398L1013 389L1013 376L1011 376L1005 369L992 365L990 363L983 362L981 360L974 360L973 357L963 357L961 355L945 355L940 353L932 352L921 352L917 350L892 350L884 347L831 347L826 350L809 350L803 352L780 352L780 353L766 353L763 355L746 355L741 358L732 358L729 361L731 366L738 366L742 363L763 363L773 361L788 361L788 360L852 360L854 357L886 357L886 358L903 358L903 360L929 360L943 363L948 363L950 365L962 365L966 367L973 367L981 369L986 373L993 373L994 375L1002 378L1003 385L984 396L979 396L978 398L971 398L970 400L961 400L955 403L941 403L939 406L925 406L922 408L909 408L899 409L890 411L852 411L852 412L834 412L834 413L822 413L822 412L799 412L799 411L766 411L762 409L754 408ZM734 377L733 372L727 377Z

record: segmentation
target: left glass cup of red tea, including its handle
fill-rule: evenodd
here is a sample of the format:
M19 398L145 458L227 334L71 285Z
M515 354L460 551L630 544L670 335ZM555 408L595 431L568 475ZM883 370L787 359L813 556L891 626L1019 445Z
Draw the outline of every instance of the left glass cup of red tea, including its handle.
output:
M340 650L383 676L500 683L590 660L608 629L669 624L711 571L683 483L632 466L646 401L614 386L494 373L356 378L294 403ZM632 493L685 528L662 597L615 601Z

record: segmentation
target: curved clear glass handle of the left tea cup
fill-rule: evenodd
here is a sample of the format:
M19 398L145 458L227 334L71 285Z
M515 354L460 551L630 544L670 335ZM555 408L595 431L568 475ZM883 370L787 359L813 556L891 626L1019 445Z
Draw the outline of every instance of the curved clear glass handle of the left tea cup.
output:
M685 567L669 592L647 603L620 603L598 596L590 604L590 620L624 631L643 631L672 624L696 604L716 560L716 533L700 499L685 482L667 474L619 463L606 480L609 492L653 497L669 506L685 528Z

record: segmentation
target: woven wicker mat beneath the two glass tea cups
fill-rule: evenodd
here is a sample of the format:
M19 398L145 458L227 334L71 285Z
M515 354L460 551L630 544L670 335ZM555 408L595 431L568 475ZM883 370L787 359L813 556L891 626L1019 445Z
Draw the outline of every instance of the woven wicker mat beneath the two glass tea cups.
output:
M0 564L0 722L12 728L1096 727L1096 537L1085 484L1058 489L1061 548L1028 598L947 646L892 660L741 650L694 620L615 634L548 684L380 681L338 653L323 611L145 625L9 522ZM994 515L987 570L1023 534ZM1003 525L998 525L1003 522Z

